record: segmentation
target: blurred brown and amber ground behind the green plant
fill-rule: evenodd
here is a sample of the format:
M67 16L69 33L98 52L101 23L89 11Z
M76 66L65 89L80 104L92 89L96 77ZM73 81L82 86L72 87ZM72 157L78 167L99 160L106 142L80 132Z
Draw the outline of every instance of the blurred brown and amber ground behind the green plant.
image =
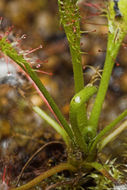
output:
M90 2L103 8L107 6L107 1ZM81 50L87 53L82 55L85 84L91 82L95 75L99 78L98 73L105 61L108 32L106 18L99 15L97 8L87 6L86 3L89 1L79 2L81 29L88 31L81 36ZM41 49L30 55L30 59L36 68L52 73L52 75L38 73L38 76L68 119L69 102L74 95L73 71L68 42L59 22L57 0L0 0L0 16L2 17L1 34L13 25L10 38L13 42L17 38L20 39L20 48L23 51L42 45ZM100 118L100 129L127 108L126 48L127 39L123 42L111 76ZM98 85L99 80L95 84ZM88 113L92 103L93 100L89 102ZM14 176L18 175L28 157L37 148L45 142L61 139L32 111L31 105L37 105L51 115L23 73L11 63L7 66L2 57L0 60L0 165L1 168L6 165L13 168ZM124 132L119 137L119 141L111 143L105 154L114 152L114 156L120 155L123 151L121 146L123 139L124 143L127 143L126 135ZM47 155L41 155L41 158L37 158L37 162L42 163L43 160L47 163L46 158ZM59 160L59 154L57 159ZM18 163L14 165L16 160ZM28 174L33 168L37 168L35 166L36 164L31 166ZM0 172L2 175L3 169Z

